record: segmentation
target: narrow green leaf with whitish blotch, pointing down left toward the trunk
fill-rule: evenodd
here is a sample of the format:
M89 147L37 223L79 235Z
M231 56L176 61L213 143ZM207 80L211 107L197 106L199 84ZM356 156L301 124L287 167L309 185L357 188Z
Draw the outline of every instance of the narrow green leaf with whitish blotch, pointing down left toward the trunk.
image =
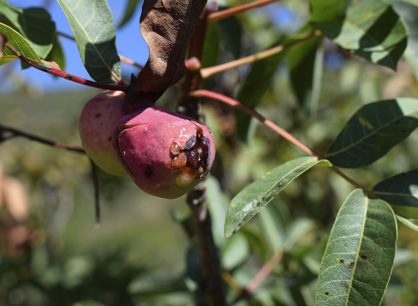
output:
M231 237L296 177L319 163L316 157L300 157L281 164L242 189L229 204L225 237Z

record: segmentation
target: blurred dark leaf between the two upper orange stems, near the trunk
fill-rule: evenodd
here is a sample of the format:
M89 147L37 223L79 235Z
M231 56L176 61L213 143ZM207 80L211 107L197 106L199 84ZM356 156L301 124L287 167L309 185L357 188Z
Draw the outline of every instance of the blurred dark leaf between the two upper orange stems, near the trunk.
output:
M219 10L227 7L219 7ZM232 53L235 59L241 57L241 24L235 16L221 19L217 22L219 35L225 44L225 49Z

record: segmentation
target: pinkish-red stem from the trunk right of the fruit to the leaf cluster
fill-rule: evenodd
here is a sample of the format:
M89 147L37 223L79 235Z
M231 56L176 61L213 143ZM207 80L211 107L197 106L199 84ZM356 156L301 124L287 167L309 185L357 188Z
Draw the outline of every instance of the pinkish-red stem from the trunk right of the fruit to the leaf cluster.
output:
M270 129L272 129L273 131L275 131L276 133L281 135L283 138L287 139L288 141L290 141L291 143L296 145L296 147L301 149L303 152L307 153L310 156L317 156L320 159L322 158L321 154L315 152L314 150L312 150L311 148L309 148L308 146L303 144L296 137L294 137L293 135L291 135L287 131L283 130L278 125L275 125L273 122L266 119L263 115L259 114L255 110L252 110L251 108L243 105L241 102L238 102L237 100L234 100L230 97L224 96L223 94L218 94L217 92L211 92L211 91L206 90L206 89L195 90L194 92L191 92L190 95L192 97L206 97L206 98L216 99L218 101L224 102L227 105L230 105L232 107L243 110L248 115L257 118L261 123L270 127Z

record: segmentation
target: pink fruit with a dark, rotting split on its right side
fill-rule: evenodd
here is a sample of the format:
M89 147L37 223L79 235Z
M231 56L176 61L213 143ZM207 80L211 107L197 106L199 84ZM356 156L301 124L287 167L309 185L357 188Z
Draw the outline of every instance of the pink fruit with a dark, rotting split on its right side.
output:
M152 106L123 117L113 136L122 167L148 194L182 196L209 173L212 133L190 117Z

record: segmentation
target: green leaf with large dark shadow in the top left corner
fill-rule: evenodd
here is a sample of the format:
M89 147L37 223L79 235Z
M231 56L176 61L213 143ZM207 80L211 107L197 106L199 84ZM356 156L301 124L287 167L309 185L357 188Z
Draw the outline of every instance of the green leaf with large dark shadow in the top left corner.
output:
M55 23L43 8L18 8L0 0L2 13L15 29L31 44L41 59L52 49L55 37Z

